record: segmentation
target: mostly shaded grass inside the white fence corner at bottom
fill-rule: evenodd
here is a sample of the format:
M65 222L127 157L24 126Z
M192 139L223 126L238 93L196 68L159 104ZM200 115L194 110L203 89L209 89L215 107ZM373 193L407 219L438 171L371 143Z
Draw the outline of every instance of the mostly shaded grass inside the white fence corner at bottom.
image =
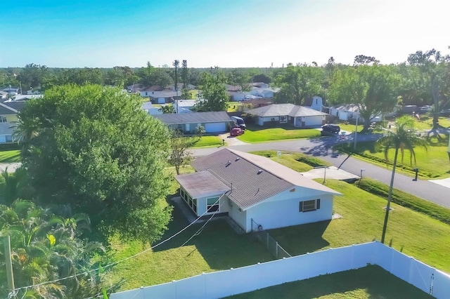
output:
M378 266L367 266L263 288L229 299L259 298L433 298Z

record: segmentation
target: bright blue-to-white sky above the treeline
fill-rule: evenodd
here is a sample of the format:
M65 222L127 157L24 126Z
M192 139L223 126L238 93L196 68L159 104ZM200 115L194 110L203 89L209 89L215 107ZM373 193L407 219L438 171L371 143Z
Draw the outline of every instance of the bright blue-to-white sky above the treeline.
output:
M395 63L450 46L448 0L6 1L0 67Z

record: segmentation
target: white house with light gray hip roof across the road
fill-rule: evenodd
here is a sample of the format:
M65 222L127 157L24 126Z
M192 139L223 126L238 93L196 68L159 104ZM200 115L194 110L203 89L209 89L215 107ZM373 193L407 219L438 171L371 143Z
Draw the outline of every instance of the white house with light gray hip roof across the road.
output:
M257 118L257 124L293 124L296 127L315 127L325 124L327 114L294 104L272 104L246 110Z

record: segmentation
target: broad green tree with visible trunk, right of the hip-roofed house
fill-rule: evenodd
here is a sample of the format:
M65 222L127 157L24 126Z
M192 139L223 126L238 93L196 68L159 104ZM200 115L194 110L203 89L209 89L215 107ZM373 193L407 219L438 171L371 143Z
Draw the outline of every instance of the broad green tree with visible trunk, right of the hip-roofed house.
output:
M367 130L373 117L395 107L398 84L399 76L391 66L346 67L333 72L328 95L331 103L358 105Z

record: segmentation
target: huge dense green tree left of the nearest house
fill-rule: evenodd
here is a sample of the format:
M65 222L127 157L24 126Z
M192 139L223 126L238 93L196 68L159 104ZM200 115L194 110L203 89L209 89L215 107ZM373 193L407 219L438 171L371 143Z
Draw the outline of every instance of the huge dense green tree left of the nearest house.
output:
M44 204L70 205L103 234L124 239L154 241L164 232L170 135L138 97L120 88L59 86L30 100L20 121L19 129L37 131L22 161Z

